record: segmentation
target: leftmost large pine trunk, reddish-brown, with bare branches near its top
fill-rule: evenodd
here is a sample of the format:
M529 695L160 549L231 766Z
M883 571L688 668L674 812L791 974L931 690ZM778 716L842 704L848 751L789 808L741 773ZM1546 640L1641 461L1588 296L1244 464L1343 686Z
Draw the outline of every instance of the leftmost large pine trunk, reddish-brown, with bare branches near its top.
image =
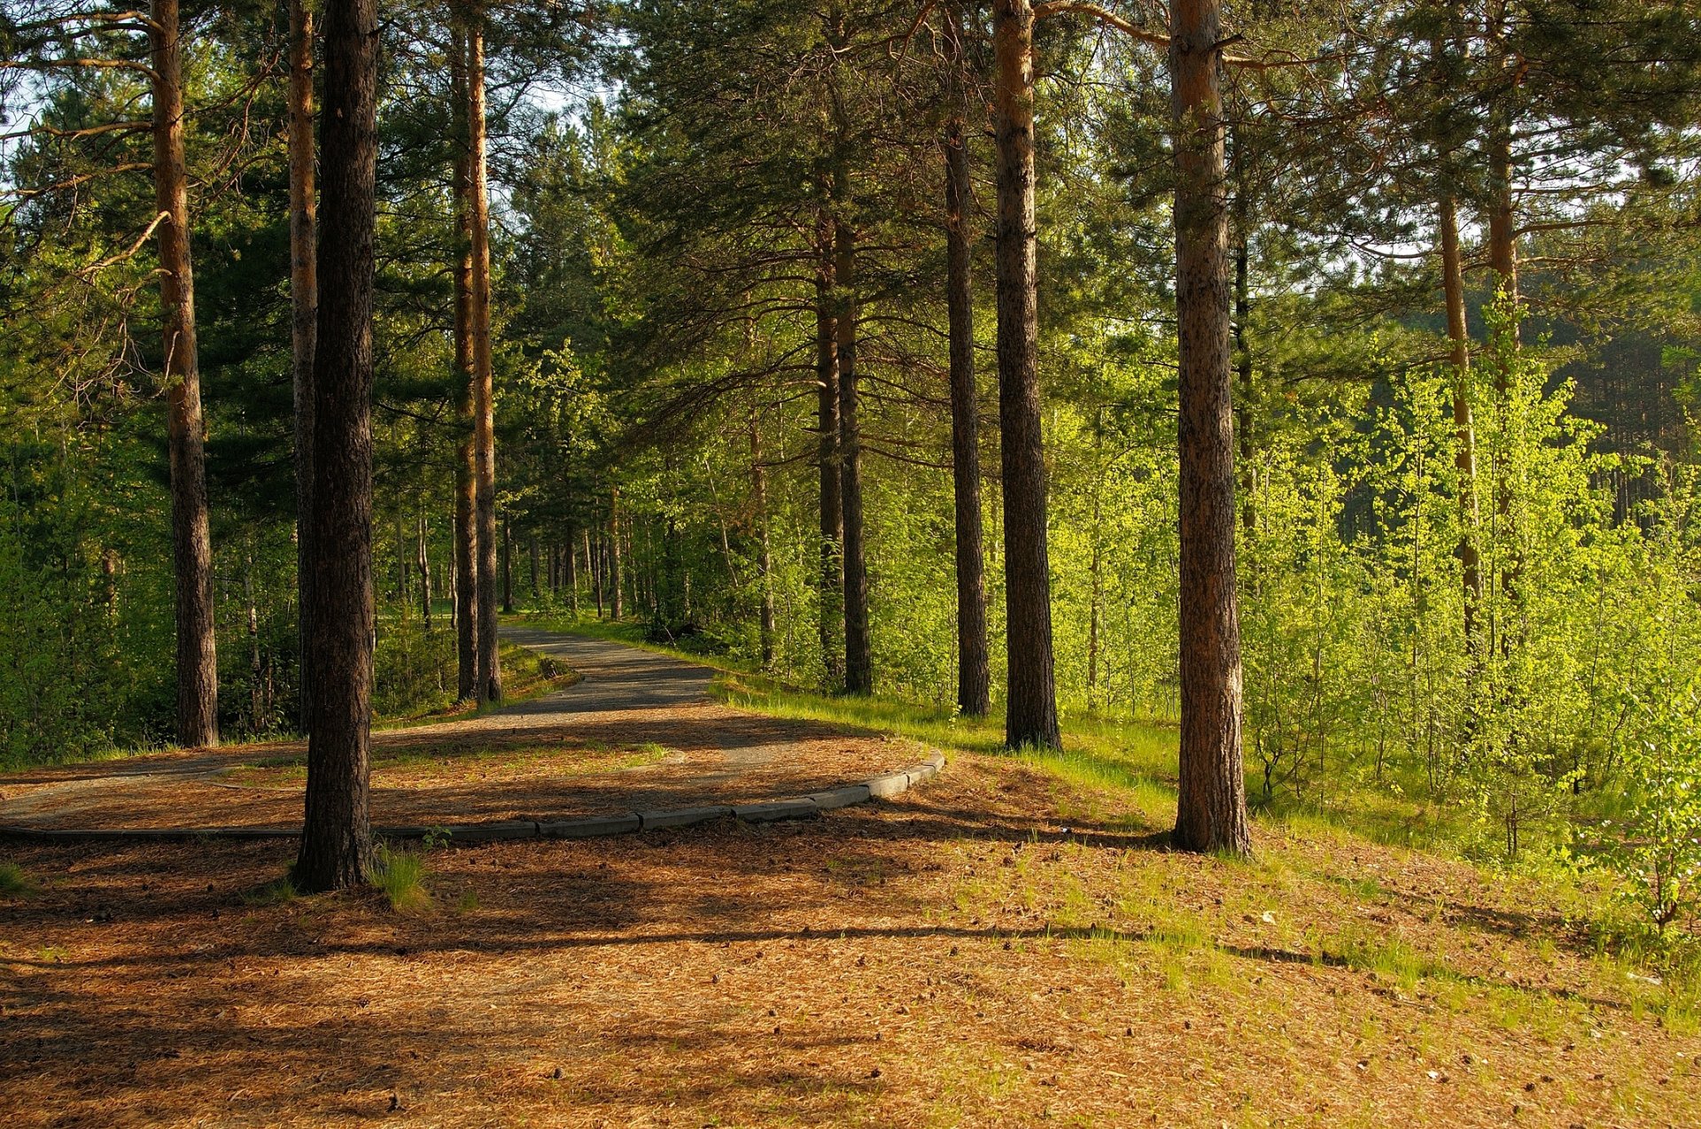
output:
M153 196L160 240L167 439L172 468L172 564L177 573L177 740L218 745L218 650L213 624L213 534L208 520L206 422L196 347L196 281L189 255L184 167L184 63L177 0L155 0Z

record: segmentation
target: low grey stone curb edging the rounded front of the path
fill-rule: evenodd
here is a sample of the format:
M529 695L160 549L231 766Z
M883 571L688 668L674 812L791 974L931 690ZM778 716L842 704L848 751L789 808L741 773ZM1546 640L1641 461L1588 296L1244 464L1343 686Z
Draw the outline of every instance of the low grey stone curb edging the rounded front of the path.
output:
M934 753L903 772L886 772L859 784L845 784L810 796L765 799L754 804L711 804L706 808L668 808L665 811L624 811L611 816L575 820L502 820L492 823L446 823L437 826L374 826L379 838L446 837L451 843L493 843L514 838L594 838L660 831L663 828L711 823L733 818L740 823L776 823L779 820L815 820L823 811L891 799L930 780L946 767L946 755ZM41 842L170 842L185 838L298 838L299 828L274 826L168 826L168 828L34 828L0 825L0 838Z

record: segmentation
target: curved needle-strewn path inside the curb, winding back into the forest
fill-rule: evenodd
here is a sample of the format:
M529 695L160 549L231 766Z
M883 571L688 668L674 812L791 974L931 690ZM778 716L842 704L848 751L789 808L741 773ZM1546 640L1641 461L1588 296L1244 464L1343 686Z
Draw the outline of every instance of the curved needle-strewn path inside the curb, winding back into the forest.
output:
M919 746L777 721L709 699L714 672L653 651L538 627L503 636L577 670L563 690L478 718L373 735L374 757L434 765L374 774L373 820L390 835L597 835L740 816L772 820L891 796L937 772ZM609 750L665 757L619 770ZM301 743L179 750L0 775L0 835L294 835L299 787L250 787L231 770L299 757Z

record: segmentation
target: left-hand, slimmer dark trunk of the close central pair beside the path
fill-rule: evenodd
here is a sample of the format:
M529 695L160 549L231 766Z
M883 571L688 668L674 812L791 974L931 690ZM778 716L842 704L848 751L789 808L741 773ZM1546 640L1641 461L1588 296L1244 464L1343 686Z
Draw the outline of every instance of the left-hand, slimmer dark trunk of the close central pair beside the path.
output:
M844 684L844 651L839 648L839 627L844 622L839 549L844 541L844 507L839 478L839 323L833 316L833 255L832 226L827 213L816 226L815 267L815 379L816 379L816 466L820 468L822 512L822 570L818 599L818 629L822 641L822 668L827 689Z

